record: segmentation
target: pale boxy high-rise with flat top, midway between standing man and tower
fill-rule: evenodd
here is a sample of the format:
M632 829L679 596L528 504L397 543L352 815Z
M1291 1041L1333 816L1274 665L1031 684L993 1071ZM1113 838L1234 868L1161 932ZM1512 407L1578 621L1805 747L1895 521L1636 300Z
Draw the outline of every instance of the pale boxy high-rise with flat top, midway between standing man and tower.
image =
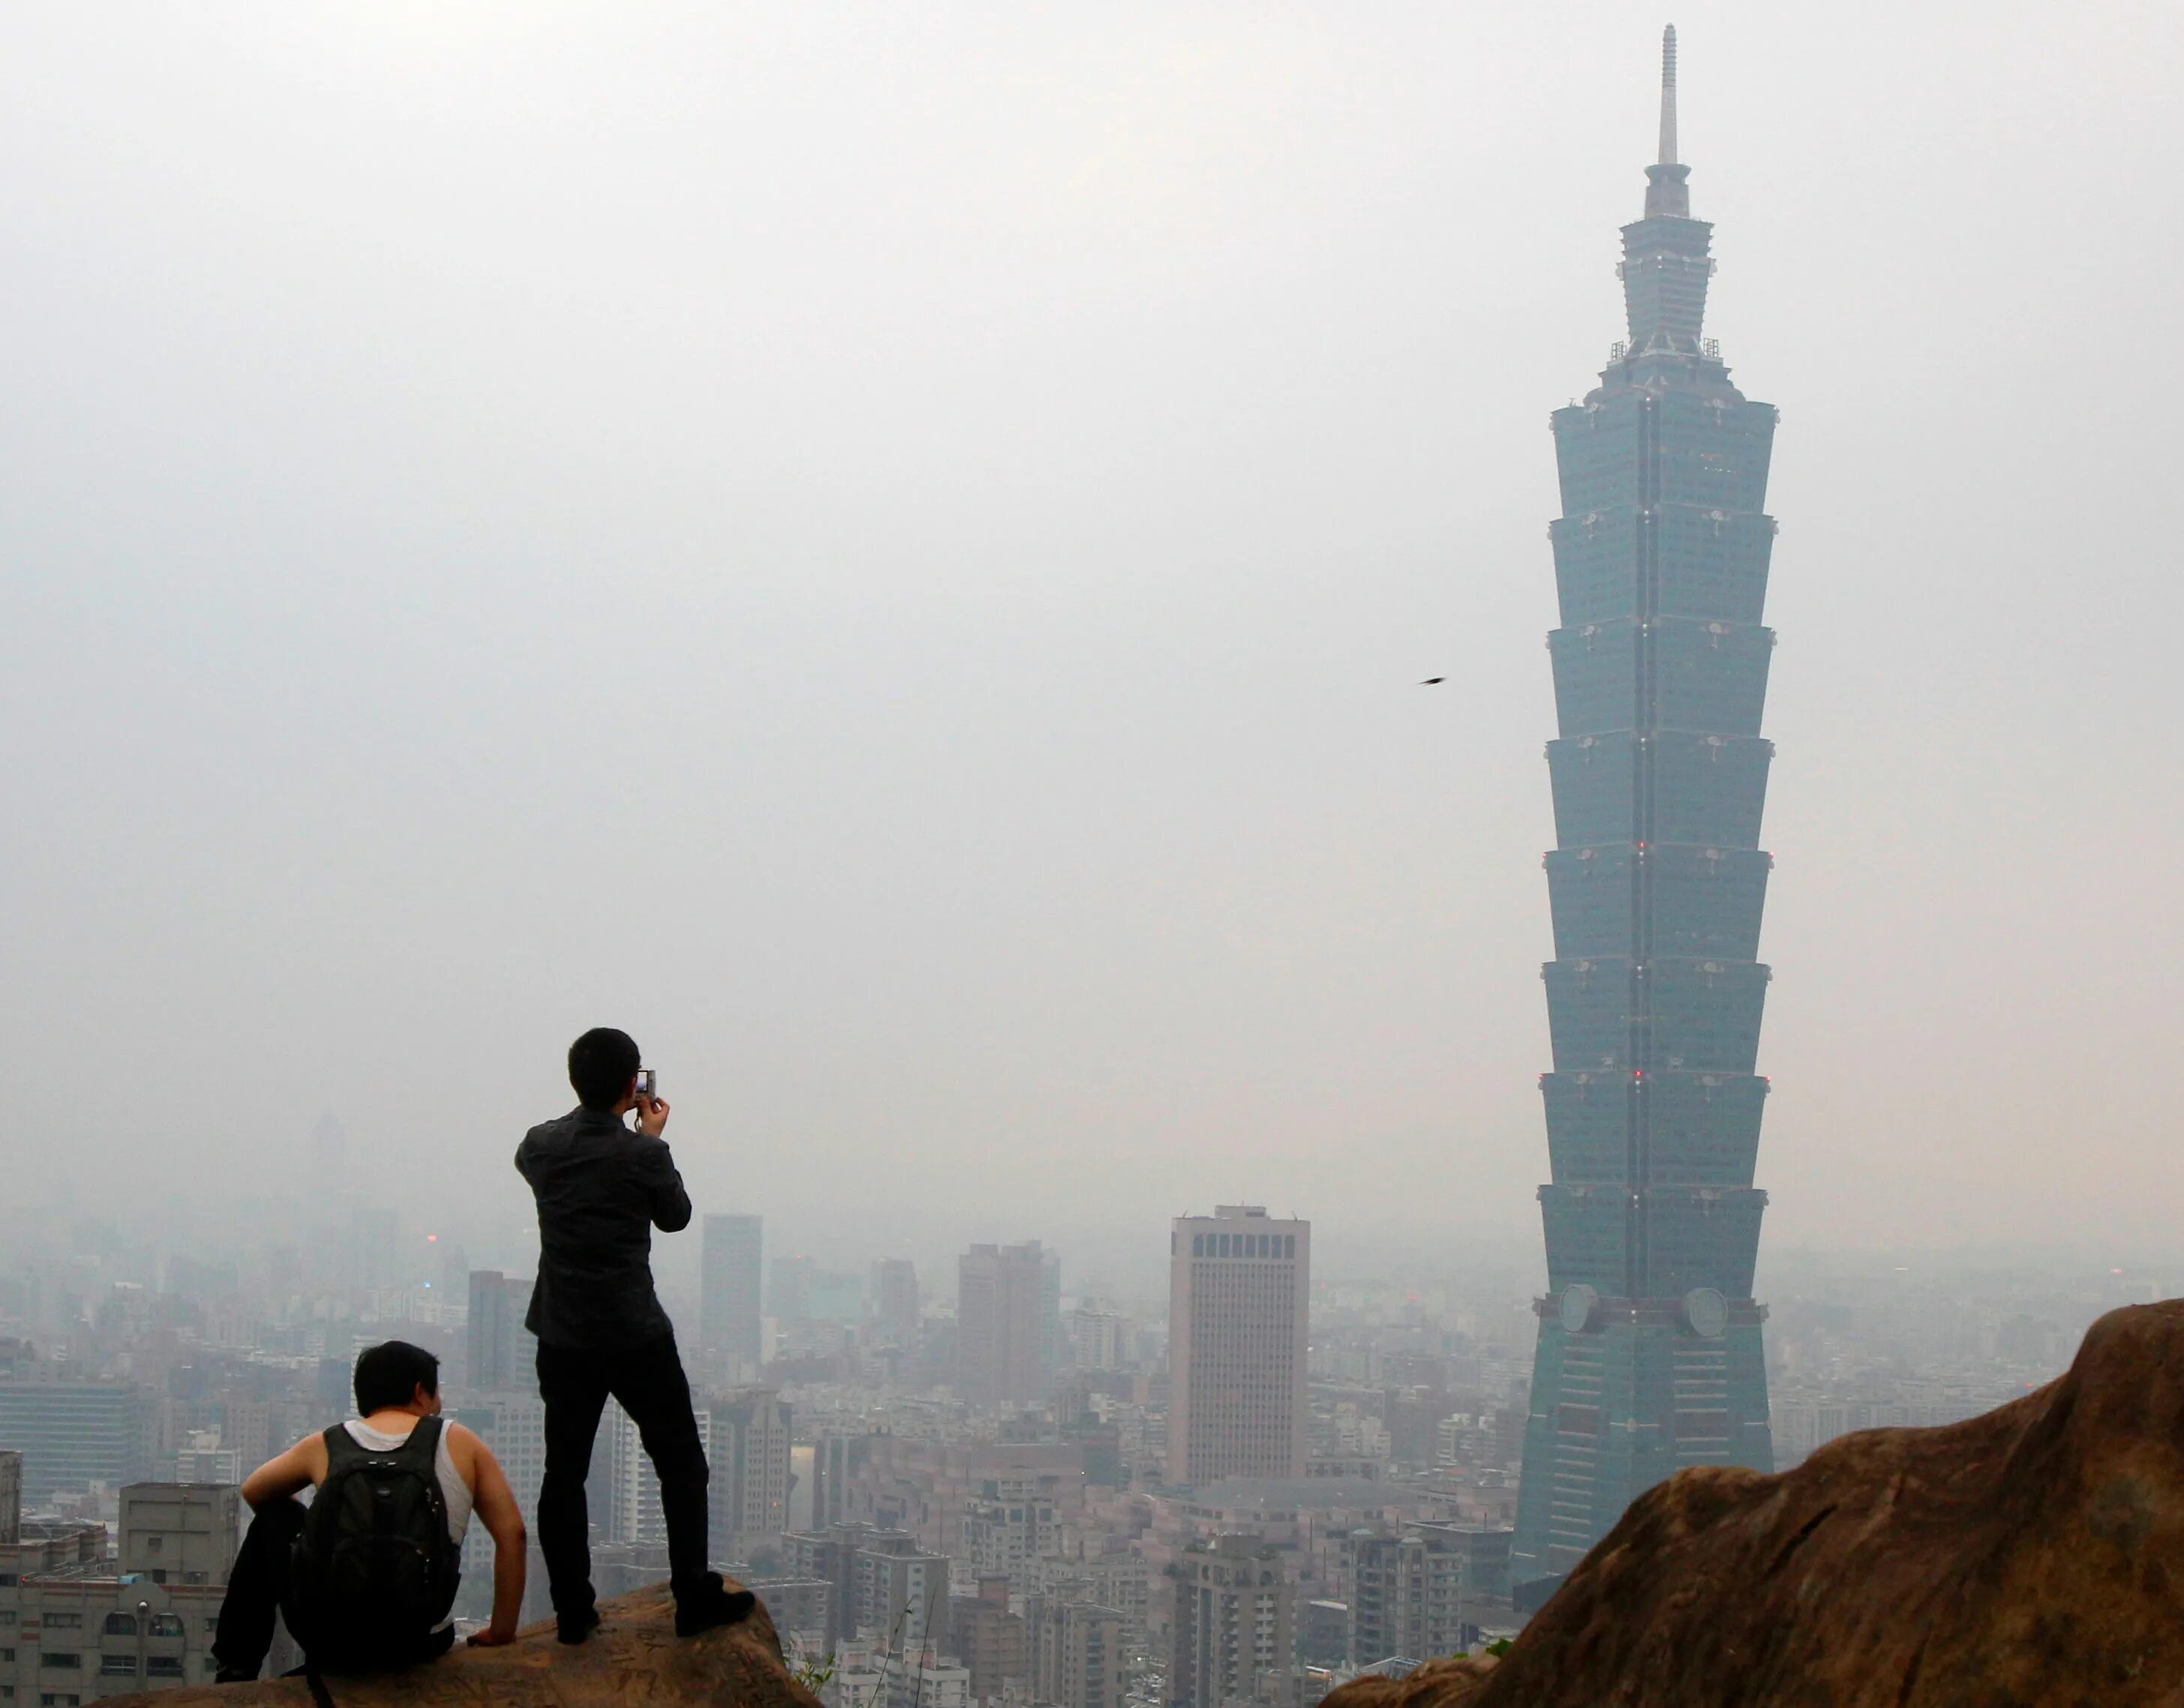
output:
M1304 1476L1313 1223L1256 1203L1168 1234L1168 1481Z

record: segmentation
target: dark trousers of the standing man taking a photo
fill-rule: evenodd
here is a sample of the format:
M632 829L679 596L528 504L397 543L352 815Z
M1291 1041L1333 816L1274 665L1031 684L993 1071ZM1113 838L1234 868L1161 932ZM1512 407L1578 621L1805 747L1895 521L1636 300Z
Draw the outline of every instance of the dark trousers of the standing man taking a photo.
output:
M546 1402L546 1474L539 1479L539 1553L557 1614L592 1605L590 1514L583 1479L592 1470L598 1413L622 1402L644 1452L660 1472L660 1511L668 1525L668 1575L677 1601L697 1601L705 1570L705 1446L690 1409L675 1335L618 1352L579 1352L539 1341L539 1398Z

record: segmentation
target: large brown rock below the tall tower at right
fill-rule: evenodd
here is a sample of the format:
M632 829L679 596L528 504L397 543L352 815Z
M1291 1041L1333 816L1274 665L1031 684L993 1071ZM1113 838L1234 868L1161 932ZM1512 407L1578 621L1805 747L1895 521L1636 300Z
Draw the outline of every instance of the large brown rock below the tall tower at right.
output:
M2184 1302L2070 1372L1780 1476L1640 1496L1483 1675L1328 1708L2184 1708Z

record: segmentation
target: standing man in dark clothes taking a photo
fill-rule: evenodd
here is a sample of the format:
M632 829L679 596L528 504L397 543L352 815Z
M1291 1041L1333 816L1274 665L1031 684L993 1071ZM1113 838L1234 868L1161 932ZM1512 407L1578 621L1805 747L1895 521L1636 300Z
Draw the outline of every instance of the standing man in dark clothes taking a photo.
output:
M539 1278L524 1328L539 1343L539 1553L563 1642L583 1642L598 1625L583 1479L609 1393L660 1472L675 1634L732 1625L756 1601L749 1590L729 1592L705 1566L705 1448L675 1328L653 1293L653 1227L688 1227L690 1195L660 1138L668 1105L649 1081L638 1088L640 1066L629 1033L594 1027L568 1046L577 1107L515 1147L515 1171L539 1206ZM622 1125L631 1110L636 1131Z

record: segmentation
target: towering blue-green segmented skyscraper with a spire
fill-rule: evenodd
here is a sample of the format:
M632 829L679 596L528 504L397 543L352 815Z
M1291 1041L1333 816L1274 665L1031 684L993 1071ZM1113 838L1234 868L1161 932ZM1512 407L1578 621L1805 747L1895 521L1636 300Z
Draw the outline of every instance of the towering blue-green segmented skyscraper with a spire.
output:
M1701 336L1712 227L1690 218L1688 173L1671 28L1660 159L1645 218L1623 227L1629 343L1553 415L1553 1184L1511 1562L1535 1590L1520 1601L1673 1470L1773 1463L1752 1169L1776 411L1732 387Z

